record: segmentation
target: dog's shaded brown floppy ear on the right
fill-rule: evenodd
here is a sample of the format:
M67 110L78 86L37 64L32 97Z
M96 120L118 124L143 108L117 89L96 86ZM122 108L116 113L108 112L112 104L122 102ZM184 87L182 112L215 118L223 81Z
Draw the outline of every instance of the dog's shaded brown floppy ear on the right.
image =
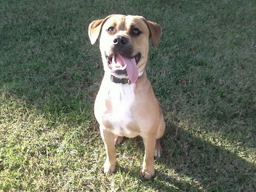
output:
M157 48L157 43L161 37L162 34L162 30L159 26L159 24L157 24L156 22L152 22L149 20L145 19L145 22L148 26L148 29L150 31L150 37L152 38L152 42L153 42L153 47L156 49Z

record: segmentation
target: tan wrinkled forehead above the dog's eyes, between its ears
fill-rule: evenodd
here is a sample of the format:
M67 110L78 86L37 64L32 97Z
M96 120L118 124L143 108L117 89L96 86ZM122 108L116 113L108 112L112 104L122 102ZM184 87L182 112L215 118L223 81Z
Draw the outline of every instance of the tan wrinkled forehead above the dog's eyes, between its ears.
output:
M119 28L130 28L131 26L140 28L147 28L147 24L144 21L145 19L141 16L136 15L113 15L110 17L104 26L118 26Z

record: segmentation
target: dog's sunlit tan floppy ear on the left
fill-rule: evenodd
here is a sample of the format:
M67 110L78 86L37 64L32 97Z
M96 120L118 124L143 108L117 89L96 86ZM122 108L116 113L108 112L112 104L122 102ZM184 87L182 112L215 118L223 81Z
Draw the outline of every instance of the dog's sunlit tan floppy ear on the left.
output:
M90 23L88 28L88 35L92 45L95 44L95 42L99 38L104 22L106 22L106 20L108 20L111 16L112 15L109 15L105 19L93 20L93 22Z

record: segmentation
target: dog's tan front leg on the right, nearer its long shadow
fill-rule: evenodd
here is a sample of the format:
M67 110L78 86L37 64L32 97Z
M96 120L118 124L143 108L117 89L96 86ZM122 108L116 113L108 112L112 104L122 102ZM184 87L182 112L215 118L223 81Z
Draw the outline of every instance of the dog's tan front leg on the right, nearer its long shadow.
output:
M154 170L154 150L156 147L156 136L143 137L145 145L145 155L142 167L142 174L146 179L150 179L155 174Z

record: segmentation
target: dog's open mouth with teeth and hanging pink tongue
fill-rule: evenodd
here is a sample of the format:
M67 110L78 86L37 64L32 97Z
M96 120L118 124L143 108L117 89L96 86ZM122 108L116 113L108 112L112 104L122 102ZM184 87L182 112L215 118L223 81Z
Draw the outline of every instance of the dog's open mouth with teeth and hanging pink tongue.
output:
M138 79L137 64L140 62L141 54L138 53L132 58L128 58L116 52L113 56L106 56L108 67L111 69L111 73L118 76L128 76L131 83L135 83Z

